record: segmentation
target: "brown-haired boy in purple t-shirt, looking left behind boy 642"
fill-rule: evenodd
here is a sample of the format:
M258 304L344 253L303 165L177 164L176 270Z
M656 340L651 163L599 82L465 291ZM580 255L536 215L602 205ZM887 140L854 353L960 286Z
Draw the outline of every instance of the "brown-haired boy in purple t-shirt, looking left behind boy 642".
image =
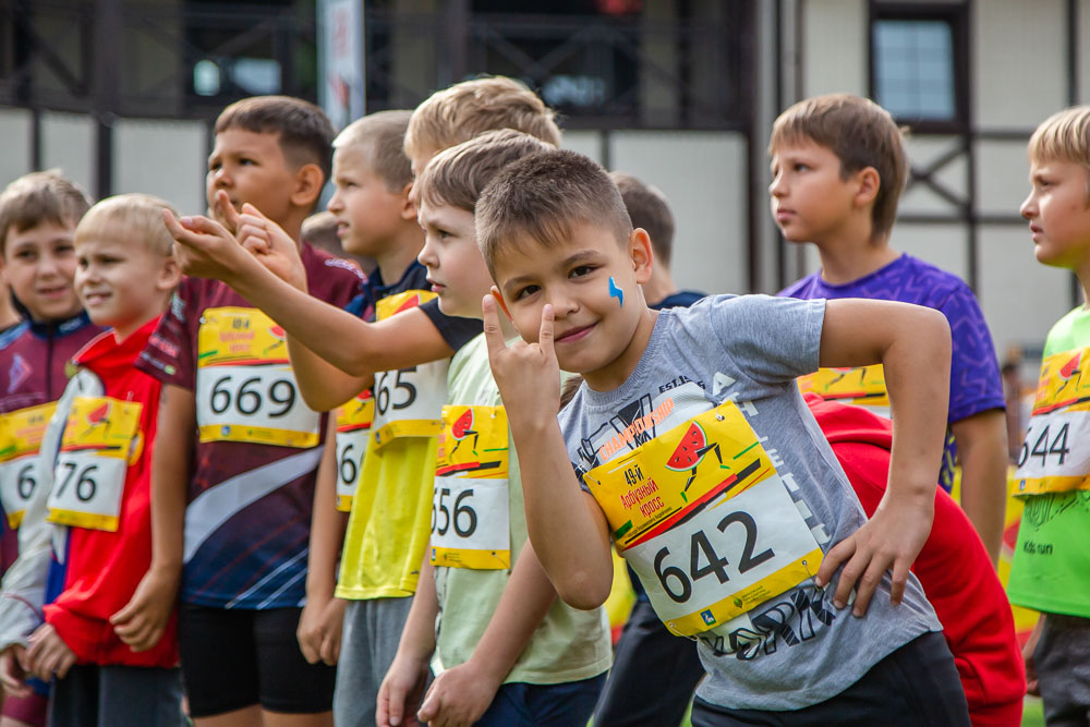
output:
M940 484L961 465L961 507L997 562L1006 507L1006 419L992 337L972 290L958 277L889 244L908 177L900 130L864 98L832 94L784 111L768 142L772 211L784 237L811 242L822 269L779 294L801 299L872 298L941 311L954 332L947 441ZM888 414L881 368L823 368L800 381L827 399Z

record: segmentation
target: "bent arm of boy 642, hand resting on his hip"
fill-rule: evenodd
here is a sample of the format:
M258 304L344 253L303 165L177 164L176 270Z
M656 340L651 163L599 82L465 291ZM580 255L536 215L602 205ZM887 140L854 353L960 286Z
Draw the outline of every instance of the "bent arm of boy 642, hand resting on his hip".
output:
M909 568L931 532L946 434L949 324L942 313L917 305L828 301L820 359L825 367L881 363L897 423L882 502L874 517L826 554L818 571L824 584L846 562L833 603L843 608L858 586L852 613L862 616L887 570L893 571L891 598L900 603Z

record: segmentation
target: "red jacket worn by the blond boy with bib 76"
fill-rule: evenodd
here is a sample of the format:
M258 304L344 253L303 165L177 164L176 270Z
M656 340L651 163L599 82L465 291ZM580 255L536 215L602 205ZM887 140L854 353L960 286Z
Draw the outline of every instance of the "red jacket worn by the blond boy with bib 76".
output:
M117 532L69 529L63 591L45 607L46 621L57 629L81 664L178 664L174 615L159 643L140 653L124 644L109 622L110 616L129 603L152 564L152 449L161 384L137 371L133 363L157 323L158 318L149 322L121 343L113 331L107 331L74 358L101 379L106 396L143 404L140 432L144 439L140 456L125 474Z

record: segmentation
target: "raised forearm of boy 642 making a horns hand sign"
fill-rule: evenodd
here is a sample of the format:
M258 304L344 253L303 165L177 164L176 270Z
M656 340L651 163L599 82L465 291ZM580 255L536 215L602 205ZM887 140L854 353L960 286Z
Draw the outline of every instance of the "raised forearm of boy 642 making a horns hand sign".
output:
M602 508L576 480L556 421L560 367L553 351L553 306L542 311L538 342L510 347L492 295L482 308L492 373L519 455L530 541L560 597L576 608L596 608L613 583L609 531Z

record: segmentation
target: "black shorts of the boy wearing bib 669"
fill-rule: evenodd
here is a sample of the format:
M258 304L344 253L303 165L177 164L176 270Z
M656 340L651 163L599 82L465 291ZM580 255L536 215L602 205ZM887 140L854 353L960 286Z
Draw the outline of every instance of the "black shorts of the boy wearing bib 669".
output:
M303 658L295 639L301 613L183 604L178 644L190 715L211 717L254 704L284 714L332 710L336 669Z

